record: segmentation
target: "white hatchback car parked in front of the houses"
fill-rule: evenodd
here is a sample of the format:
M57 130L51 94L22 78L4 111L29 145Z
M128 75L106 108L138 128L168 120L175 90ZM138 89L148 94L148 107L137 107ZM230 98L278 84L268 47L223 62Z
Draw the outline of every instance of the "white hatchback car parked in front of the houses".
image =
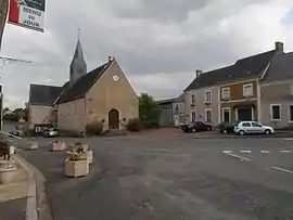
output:
M244 134L272 134L275 133L273 128L269 126L263 126L256 121L241 121L234 127L234 132L239 135Z

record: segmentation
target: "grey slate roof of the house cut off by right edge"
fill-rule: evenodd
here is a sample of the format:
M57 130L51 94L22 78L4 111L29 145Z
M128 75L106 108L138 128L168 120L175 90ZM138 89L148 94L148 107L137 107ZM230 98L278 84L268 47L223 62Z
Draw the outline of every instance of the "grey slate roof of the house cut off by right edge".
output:
M271 65L262 81L269 82L293 78L293 52L275 56Z

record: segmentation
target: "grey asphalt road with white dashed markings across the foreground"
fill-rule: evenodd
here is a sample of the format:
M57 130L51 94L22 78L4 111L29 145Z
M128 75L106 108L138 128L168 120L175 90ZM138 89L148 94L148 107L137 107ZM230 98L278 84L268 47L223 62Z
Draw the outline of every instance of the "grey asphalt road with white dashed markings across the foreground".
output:
M22 154L44 173L55 220L293 219L293 141L89 139L95 165L81 179L39 141Z

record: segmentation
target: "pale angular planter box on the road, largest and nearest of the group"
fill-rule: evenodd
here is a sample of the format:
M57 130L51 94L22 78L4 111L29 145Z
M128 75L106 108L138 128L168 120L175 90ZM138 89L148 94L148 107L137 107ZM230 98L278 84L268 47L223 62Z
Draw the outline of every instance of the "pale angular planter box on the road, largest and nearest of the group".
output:
M85 177L89 173L89 163L87 159L73 161L69 159L65 160L65 176L77 178Z

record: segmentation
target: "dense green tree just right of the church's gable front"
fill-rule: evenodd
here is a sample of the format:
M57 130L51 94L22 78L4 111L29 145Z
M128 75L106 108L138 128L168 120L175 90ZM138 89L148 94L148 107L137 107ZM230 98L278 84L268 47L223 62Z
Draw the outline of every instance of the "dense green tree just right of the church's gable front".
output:
M139 96L139 118L145 128L158 127L161 107L154 99L141 93Z

